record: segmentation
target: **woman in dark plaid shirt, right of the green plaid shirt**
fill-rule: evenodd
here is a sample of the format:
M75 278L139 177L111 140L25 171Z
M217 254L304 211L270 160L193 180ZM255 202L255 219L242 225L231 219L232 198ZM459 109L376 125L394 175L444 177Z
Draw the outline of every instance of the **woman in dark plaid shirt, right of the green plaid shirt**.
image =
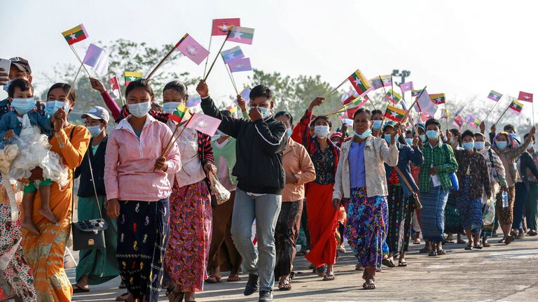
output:
M457 210L469 240L465 250L482 249L479 238L483 224L483 194L485 193L487 199L491 197L490 175L484 173L488 170L488 165L483 155L475 150L474 143L473 132L466 130L462 134L464 150L454 151L458 165L457 179L461 184L460 189L455 192Z

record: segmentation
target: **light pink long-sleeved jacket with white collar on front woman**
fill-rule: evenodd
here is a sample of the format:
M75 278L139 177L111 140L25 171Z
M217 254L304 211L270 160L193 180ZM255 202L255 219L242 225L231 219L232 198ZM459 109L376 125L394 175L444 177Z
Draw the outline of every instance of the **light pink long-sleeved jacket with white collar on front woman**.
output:
M129 123L129 117L112 129L106 144L104 185L106 199L120 201L158 201L172 193L168 174L181 169L179 149L174 143L165 155L168 169L153 171L155 161L172 137L172 131L146 115L140 138Z

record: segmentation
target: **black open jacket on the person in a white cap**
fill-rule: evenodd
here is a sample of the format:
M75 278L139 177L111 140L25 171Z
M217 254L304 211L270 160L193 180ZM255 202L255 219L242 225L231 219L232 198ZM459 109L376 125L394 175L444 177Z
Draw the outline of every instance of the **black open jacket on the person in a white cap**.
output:
M81 184L78 186L78 197L94 197L92 185L92 176L90 175L90 164L88 164L88 157L92 160L93 179L95 180L95 190L97 195L106 195L104 190L104 154L106 153L106 141L108 136L105 136L103 141L99 143L97 152L95 155L92 152L92 141L90 140L90 147L84 154L82 163L75 170L75 178L81 177ZM93 138L92 138L93 139Z

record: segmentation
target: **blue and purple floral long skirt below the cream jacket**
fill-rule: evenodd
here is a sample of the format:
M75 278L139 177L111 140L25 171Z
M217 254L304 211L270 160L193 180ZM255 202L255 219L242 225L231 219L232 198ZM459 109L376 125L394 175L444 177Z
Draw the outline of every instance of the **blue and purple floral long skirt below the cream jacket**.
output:
M351 189L347 203L345 237L357 254L359 264L381 268L382 244L388 229L387 199L368 198L366 187Z

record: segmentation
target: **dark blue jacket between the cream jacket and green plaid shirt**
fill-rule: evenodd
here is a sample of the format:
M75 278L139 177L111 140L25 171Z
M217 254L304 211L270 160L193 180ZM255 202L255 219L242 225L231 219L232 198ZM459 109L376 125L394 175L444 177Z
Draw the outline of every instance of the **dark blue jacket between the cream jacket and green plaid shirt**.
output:
M415 183L415 180L413 180L413 176L411 175L411 168L409 167L409 162L413 163L415 166L420 166L424 162L424 157L422 156L422 151L418 147L411 148L409 145L402 144L402 143L396 143L398 145L398 164L396 165L400 171L403 173L403 175L407 178L409 184L415 192L418 192L418 186ZM388 166L385 164L385 175L387 175L387 184L389 183L390 175L392 175L392 166ZM401 187L403 189L403 196L410 196L411 192L406 186L406 183L403 182L401 179L399 173L396 172L396 175L398 175L398 179L400 180Z

